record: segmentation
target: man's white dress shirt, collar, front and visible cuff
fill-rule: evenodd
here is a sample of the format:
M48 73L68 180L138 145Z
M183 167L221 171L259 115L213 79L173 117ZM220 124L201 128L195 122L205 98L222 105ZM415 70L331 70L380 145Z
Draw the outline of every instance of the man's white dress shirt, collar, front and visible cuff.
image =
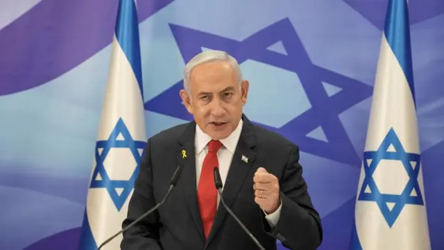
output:
M221 179L222 183L225 184L225 179L228 176L228 169L230 169L231 161L234 155L234 151L237 147L237 142L239 141L239 137L241 135L242 131L242 119L240 120L239 124L237 125L237 128L231 133L228 138L220 140L223 144L221 149L217 151L217 158L219 160L219 172L221 173ZM200 171L202 169L203 160L205 159L205 156L207 156L208 152L208 142L210 142L212 138L210 138L209 135L203 133L203 131L199 128L199 126L196 124L196 138L194 139L194 147L196 149L196 188L199 183L200 178ZM219 205L219 195L218 195L218 205ZM281 206L278 208L278 210L275 211L275 213L271 213L270 215L267 215L265 213L265 219L270 224L271 227L274 227L279 220L280 217L280 210L282 208Z

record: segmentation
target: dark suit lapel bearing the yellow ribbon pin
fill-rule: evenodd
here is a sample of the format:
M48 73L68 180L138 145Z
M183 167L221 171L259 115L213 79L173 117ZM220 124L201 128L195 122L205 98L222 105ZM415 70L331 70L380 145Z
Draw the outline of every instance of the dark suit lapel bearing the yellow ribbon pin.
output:
M196 184L196 153L194 149L194 135L196 133L196 123L191 122L180 138L178 156L179 162L184 166L182 172L182 191L185 195L187 208L194 220L196 229L200 238L205 241L203 234L202 219L200 219L199 206L197 202L197 184ZM186 156L184 156L184 153Z

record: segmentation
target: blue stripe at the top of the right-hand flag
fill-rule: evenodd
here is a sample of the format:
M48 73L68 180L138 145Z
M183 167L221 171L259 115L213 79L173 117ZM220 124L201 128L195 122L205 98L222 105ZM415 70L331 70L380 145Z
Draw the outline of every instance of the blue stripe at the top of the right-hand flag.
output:
M409 7L407 0L390 0L387 8L384 33L388 45L395 54L409 82L413 103L416 105L409 25Z

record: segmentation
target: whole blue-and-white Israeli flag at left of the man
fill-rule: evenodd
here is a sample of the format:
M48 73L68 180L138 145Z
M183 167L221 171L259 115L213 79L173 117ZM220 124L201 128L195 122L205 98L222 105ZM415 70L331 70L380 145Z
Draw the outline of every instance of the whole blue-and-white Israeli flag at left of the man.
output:
M146 145L137 8L120 0L79 249L121 230ZM102 249L120 249L121 235Z

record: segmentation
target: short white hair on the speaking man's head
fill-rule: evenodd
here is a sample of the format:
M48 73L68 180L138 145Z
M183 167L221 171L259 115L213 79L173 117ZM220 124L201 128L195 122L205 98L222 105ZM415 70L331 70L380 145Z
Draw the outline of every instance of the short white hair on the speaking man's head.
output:
M234 70L234 73L237 74L237 81L239 82L239 88L241 87L242 82L242 72L241 68L239 67L239 63L237 63L237 60L234 59L230 54L228 54L225 51L203 51L201 53L198 53L194 58L191 58L187 65L185 65L184 69L184 77L183 77L183 87L185 88L185 91L189 93L189 81L191 78L191 72L193 71L194 67L197 65L201 65L203 63L209 63L214 61L223 61L230 64L232 69Z

